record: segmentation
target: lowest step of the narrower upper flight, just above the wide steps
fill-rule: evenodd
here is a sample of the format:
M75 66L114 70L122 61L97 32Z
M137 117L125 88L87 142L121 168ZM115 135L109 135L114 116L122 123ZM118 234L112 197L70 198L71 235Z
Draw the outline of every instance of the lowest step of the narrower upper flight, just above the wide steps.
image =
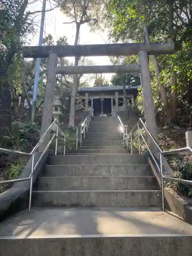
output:
M67 152L67 155L78 155L78 154L88 154L88 155L92 155L92 154L96 154L96 153L102 153L102 154L108 154L108 153L117 153L117 154L126 154L127 150L126 148L88 148L88 149L84 149L84 148L80 148L79 150L71 150Z

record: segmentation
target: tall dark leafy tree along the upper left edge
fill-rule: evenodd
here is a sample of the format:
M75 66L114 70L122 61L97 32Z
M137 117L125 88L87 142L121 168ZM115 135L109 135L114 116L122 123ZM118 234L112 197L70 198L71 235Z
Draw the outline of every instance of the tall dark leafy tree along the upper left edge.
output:
M30 11L30 5L35 2L39 0L3 0L0 3L0 126L8 130L11 130L12 78L23 63L19 48L34 31L33 15L41 12Z

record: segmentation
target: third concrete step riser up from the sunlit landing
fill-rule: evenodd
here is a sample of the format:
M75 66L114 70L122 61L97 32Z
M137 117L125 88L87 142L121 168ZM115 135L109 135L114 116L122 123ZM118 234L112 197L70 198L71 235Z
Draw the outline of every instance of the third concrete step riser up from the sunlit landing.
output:
M76 176L152 176L148 164L77 164L46 165L41 176L76 177Z

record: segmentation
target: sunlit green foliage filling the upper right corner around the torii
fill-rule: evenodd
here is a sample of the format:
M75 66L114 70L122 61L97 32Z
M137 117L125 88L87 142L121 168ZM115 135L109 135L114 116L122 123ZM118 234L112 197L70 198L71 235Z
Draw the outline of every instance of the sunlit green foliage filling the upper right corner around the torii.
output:
M187 113L191 120L191 81L192 81L192 11L190 0L144 1L144 0L112 0L110 9L110 33L114 41L143 42L144 25L151 41L174 41L177 52L173 55L160 55L160 81L167 92L167 99L172 107L173 93L177 94L177 113ZM156 73L150 59L153 96L156 111L161 112L163 104L156 79ZM177 83L172 83L173 74L177 76ZM141 95L139 94L139 102ZM139 106L141 108L141 106ZM183 111L180 111L183 110Z

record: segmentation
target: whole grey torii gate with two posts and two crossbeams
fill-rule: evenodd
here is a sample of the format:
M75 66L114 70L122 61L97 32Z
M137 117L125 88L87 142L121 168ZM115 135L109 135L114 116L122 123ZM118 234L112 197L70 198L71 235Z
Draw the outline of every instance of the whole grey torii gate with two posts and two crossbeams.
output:
M153 111L154 102L152 97L150 69L148 67L147 54L173 54L174 52L175 49L173 43L23 47L22 53L25 58L49 58L40 137L46 132L52 122L56 74L140 72L145 120L151 134L156 138L157 127L153 125L156 123L156 121L155 113ZM126 55L138 55L139 65L57 67L58 57ZM44 143L42 143L39 147L39 151L43 151L45 149L49 140L50 134L45 138Z

